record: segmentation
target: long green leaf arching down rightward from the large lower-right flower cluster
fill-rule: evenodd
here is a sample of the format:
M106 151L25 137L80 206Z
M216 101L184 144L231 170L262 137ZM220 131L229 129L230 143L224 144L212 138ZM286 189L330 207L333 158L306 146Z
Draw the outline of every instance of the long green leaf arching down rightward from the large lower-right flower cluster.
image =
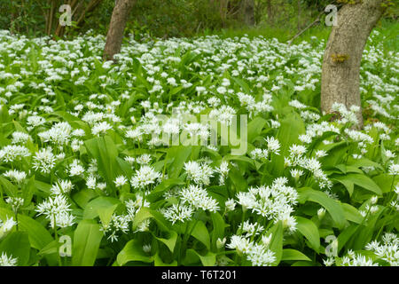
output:
M335 201L328 197L327 194L310 187L302 187L298 189L298 193L300 195L301 203L304 201L316 202L330 213L332 220L334 220L335 224L338 225L339 228L342 228L345 225L345 214L339 201Z

